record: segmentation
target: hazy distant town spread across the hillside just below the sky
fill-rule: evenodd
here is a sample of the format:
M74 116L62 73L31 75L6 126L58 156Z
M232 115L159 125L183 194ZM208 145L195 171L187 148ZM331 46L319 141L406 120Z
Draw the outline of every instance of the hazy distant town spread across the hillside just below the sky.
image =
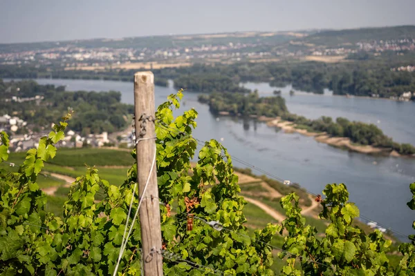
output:
M98 39L93 41L68 41L49 43L48 48L6 48L0 46L0 64L21 65L35 63L37 66L59 66L70 69L102 69L108 66L129 68L143 62L185 63L273 61L290 57L340 57L358 52L405 52L415 50L415 39L389 39L340 43L336 47L318 45L298 37L307 32L237 34L212 34L197 36L163 37L163 43L138 43L151 38ZM154 37L156 39L157 37ZM194 43L194 40L199 43ZM131 42L132 41L132 42ZM166 42L168 41L168 42ZM279 43L286 41L286 43ZM136 44L134 47L126 47ZM158 46L160 44L160 46ZM194 45L196 44L196 45ZM311 58L313 60L313 58ZM316 59L318 60L318 59ZM338 61L339 59L334 59ZM132 65L132 66L133 66ZM144 66L144 64L141 64Z

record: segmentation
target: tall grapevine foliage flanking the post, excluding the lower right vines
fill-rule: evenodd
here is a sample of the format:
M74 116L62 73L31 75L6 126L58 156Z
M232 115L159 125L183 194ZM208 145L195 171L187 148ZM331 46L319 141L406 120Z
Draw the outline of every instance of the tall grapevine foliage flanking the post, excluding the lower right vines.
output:
M160 201L165 203L161 208L163 248L208 268L193 270L185 262L165 259L165 273L202 275L215 269L230 275L273 274L270 247L255 240L270 241L279 226L269 224L255 231L254 237L248 236L242 213L246 202L238 195L230 155L217 141L207 142L196 166L190 166L196 150L191 133L196 127L197 112L188 110L174 119L173 108L179 107L179 97L181 92L171 95L156 113L161 124L156 128L156 144ZM78 177L71 187L64 218L46 213L46 196L36 179L44 161L55 157L54 144L64 138L67 119L40 140L39 148L28 151L19 172L1 171L1 273L108 275L114 269L133 196L136 166L131 167L120 187L101 179L96 168L88 168L86 175ZM100 188L106 197L98 202L95 196ZM192 207L187 205L189 199L194 202ZM174 205L176 214L172 216L167 206ZM232 231L218 232L198 220L188 232L186 217L190 211L207 221L220 221ZM140 224L135 224L120 273L140 273L141 257L146 253L141 255L139 248Z

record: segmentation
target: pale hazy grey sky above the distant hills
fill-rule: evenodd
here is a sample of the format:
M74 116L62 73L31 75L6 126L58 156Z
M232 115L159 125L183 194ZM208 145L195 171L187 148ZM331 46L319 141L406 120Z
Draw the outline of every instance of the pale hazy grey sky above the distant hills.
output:
M415 24L415 0L0 0L0 43Z

